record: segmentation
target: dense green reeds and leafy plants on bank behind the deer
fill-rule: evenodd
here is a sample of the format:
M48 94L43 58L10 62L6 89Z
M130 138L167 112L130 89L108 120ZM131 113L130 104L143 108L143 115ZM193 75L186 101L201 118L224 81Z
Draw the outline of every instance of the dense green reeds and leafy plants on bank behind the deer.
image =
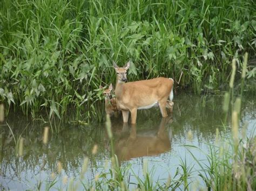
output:
M102 118L99 84L112 60L132 60L129 80L169 76L195 93L217 90L255 56L255 1L0 2L0 102L24 114ZM246 78L255 76L248 68ZM253 89L253 88L252 88Z

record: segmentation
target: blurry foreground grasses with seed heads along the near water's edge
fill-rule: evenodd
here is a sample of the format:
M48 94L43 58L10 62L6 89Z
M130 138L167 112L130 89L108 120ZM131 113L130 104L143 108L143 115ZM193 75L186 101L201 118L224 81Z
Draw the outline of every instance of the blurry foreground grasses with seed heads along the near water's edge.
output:
M245 60L242 63L242 76L241 76L241 89L244 86L244 77L246 76L246 65L248 54L244 56ZM146 160L143 162L143 176L139 177L135 173L132 175L131 165L119 166L118 159L114 153L114 144L113 144L113 133L111 130L111 121L110 117L106 117L106 132L110 141L110 154L111 154L111 166L110 168L99 167L94 161L96 153L98 152L98 146L95 145L91 149L90 160L88 157L84 158L81 172L79 178L73 179L68 178L67 175L62 173L65 163L60 161L56 162L56 158L50 157L52 163L57 163L56 174L52 173L51 177L48 180L38 180L37 185L34 185L32 189L85 189L85 190L129 190L136 188L138 190L255 190L256 189L256 137L246 137L246 125L239 127L239 115L241 110L241 99L242 95L239 95L234 99L234 78L235 78L235 60L232 63L232 75L230 77L230 91L227 92L224 96L223 110L227 115L231 114L231 125L228 123L224 124L224 128L231 129L231 136L225 137L221 136L218 129L216 129L216 137L214 143L208 143L208 153L204 153L200 148L192 145L184 145L188 148L188 152L194 158L194 162L198 164L199 171L195 166L188 166L186 159L181 159L180 165L177 168L176 173L171 174L170 178L167 180L154 180L153 173L154 169L149 171L148 163ZM230 112L229 112L230 111ZM228 113L229 112L229 113ZM8 124L7 124L8 125ZM9 125L8 125L9 126ZM10 128L10 127L9 127ZM25 128L26 129L26 128ZM10 128L11 131L11 128ZM241 132L241 133L239 133ZM48 150L51 150L51 147L48 147L49 139L49 128L44 129L43 139L40 141L43 143L43 149L47 153ZM241 135L240 135L241 134ZM14 133L10 133L14 137ZM73 137L73 136L71 136ZM188 132L187 138L190 139L193 137L193 132ZM84 140L84 137L81 137ZM78 139L77 137L75 139ZM32 140L32 139L31 139ZM37 139L39 140L39 139ZM36 140L36 141L37 141ZM21 136L15 141L15 152L19 160L25 160L24 151L24 138ZM35 142L35 140L32 140ZM85 141L87 141L85 139ZM10 142L10 141L9 141ZM3 142L5 143L5 142ZM5 145L6 146L6 145ZM72 149L78 148L74 145L69 145ZM31 150L31 148L26 148ZM199 150L201 153L206 155L206 160L199 160L198 156L194 155L193 150ZM6 148L8 152L11 152L10 148ZM24 156L23 156L24 155ZM45 155L46 157L46 155ZM71 157L74 157L71 155ZM63 157L65 158L65 157ZM75 157L77 158L77 157ZM35 161L35 160L33 160ZM55 161L55 162L54 162ZM65 160L64 160L65 161ZM79 160L80 161L80 160ZM71 160L72 162L72 160ZM94 164L95 168L102 168L103 171L95 174L92 180L85 180L84 176L87 172L89 164ZM44 164L45 165L45 164ZM43 166L44 166L43 165ZM56 167L55 167L56 168ZM43 169L43 168L42 168ZM196 174L195 174L196 172ZM130 181L130 176L134 176L135 182ZM193 183L193 178L195 176L200 176L204 185ZM28 184L29 185L29 184Z

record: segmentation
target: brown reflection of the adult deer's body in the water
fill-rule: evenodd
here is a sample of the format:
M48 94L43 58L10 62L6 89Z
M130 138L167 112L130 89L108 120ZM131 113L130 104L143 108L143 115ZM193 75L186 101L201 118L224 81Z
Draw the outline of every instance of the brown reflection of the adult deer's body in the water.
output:
M161 119L158 129L137 131L136 125L123 124L120 137L116 140L116 155L119 161L147 155L158 155L171 148L172 130L165 131L166 124L172 122L171 117Z

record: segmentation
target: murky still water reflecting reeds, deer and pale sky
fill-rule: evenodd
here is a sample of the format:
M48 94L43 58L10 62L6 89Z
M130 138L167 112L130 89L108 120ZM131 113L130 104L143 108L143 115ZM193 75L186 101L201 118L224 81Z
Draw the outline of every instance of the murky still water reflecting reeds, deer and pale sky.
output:
M172 176L181 161L187 166L195 165L184 145L194 145L208 151L207 143L215 141L216 128L221 136L230 137L231 130L225 127L221 96L191 96L182 94L174 99L172 117L161 118L157 108L140 110L137 125L123 124L120 118L111 118L114 147L120 165L130 167L130 182L136 182L133 174L142 176L143 165L148 165L155 180ZM242 103L240 126L247 123L247 136L255 135L256 107L253 97L246 97ZM228 119L229 120L229 119ZM30 122L15 116L6 119L8 125L0 126L0 189L35 189L41 185L45 189L53 176L58 174L60 161L62 177L77 181L82 171L85 157L89 166L84 181L93 181L96 174L108 171L110 166L110 141L105 124L66 124L58 134L50 133L48 145L42 143L43 124ZM190 139L188 132L192 132ZM14 138L15 137L15 138ZM24 138L22 157L18 157L18 142ZM97 145L97 153L92 154ZM191 148L198 159L205 155ZM59 178L60 179L60 178ZM58 179L57 179L58 180ZM42 183L41 183L42 182ZM53 188L65 188L62 180Z

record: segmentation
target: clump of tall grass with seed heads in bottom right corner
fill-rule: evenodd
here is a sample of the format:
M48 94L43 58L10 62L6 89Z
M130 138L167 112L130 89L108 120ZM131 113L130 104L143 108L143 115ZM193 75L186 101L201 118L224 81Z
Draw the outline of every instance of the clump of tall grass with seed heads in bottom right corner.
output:
M244 56L241 81L244 83L248 55ZM239 128L239 114L241 109L241 95L234 101L227 97L232 93L233 79L237 69L233 61L233 70L230 78L230 91L225 94L224 111L228 112L227 105L231 107L230 125L232 137L216 137L215 144L210 144L210 153L207 153L208 162L202 164L192 151L189 151L197 164L199 164L199 175L205 181L208 189L212 190L255 190L256 189L256 137L245 136L244 125ZM242 92L243 86L241 86ZM241 135L242 133L242 135ZM218 140L217 140L218 138Z

